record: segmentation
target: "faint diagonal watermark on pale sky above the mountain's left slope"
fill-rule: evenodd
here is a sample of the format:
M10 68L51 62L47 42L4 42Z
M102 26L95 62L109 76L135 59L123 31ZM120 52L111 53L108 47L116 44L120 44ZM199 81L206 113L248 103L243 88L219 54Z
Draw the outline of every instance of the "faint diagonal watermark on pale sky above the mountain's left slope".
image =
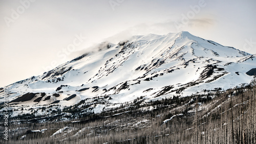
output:
M57 57L61 61L65 61L67 59L67 56L69 56L72 52L74 52L78 46L80 46L84 40L86 40L86 37L83 37L80 33L75 34L75 38L73 39L72 43L70 43L67 47L64 47L61 51L57 52ZM42 67L44 71L52 70L53 68L57 67L59 64L57 60L53 60L49 66Z

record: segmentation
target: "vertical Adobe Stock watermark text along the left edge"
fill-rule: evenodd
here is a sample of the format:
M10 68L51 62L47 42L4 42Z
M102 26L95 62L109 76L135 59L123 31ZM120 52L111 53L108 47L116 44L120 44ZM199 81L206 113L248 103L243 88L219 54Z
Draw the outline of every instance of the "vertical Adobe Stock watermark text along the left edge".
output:
M8 129L8 118L9 118L9 113L8 113L8 88L4 88L4 108L3 108L3 115L4 115L4 139L8 140L9 136L9 129Z

